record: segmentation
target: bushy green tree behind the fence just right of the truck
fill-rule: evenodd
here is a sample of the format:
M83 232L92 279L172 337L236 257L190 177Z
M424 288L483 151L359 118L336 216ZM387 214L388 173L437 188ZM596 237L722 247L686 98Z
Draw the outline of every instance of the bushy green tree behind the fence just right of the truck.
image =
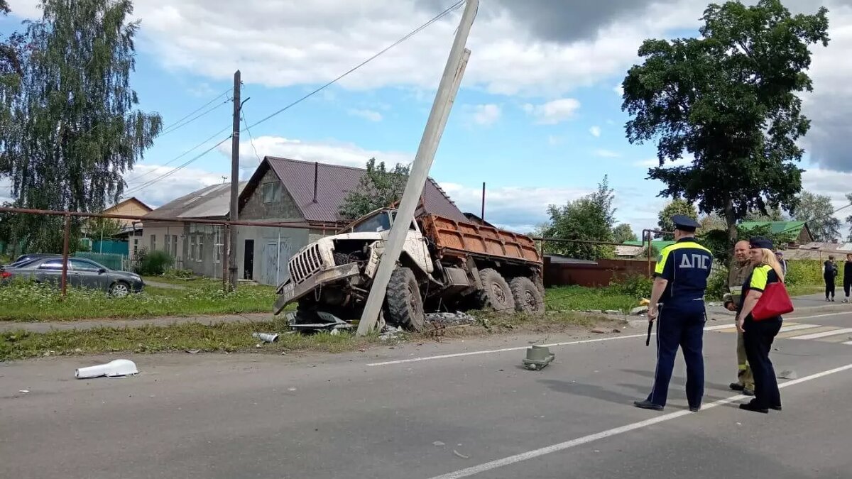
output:
M550 227L544 232L549 238L564 240L593 240L613 242L613 189L607 176L598 184L597 191L567 205L550 205ZM612 257L613 246L569 242L546 242L545 251L556 252L578 259Z

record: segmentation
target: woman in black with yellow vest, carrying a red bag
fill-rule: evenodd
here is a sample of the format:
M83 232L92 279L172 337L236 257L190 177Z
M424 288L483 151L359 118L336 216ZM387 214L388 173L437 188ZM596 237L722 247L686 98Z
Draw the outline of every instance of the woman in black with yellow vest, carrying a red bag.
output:
M737 313L737 329L743 332L746 357L754 376L754 399L740 404L740 409L756 413L769 413L772 408L781 410L781 395L775 370L769 360L769 351L778 331L781 329L781 317L756 321L751 311L757 300L763 296L763 290L771 283L784 282L784 272L775 257L772 241L765 238L749 240L751 264L754 269L743 283L740 311Z

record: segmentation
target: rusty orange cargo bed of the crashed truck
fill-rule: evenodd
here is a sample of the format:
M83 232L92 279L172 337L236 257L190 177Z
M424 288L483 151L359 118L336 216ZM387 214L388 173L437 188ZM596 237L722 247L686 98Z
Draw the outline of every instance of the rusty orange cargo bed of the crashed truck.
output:
M443 216L426 215L420 218L423 234L445 256L479 255L542 263L535 242L525 234L515 234L486 225L458 222Z

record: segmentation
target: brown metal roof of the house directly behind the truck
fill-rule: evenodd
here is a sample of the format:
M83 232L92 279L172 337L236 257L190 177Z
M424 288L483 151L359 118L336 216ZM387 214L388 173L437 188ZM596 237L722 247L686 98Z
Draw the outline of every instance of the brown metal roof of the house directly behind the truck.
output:
M247 196L256 188L256 183L271 168L296 202L302 217L308 222L343 222L338 212L346 195L358 188L365 169L338 164L315 163L278 157L265 157L245 188ZM316 170L317 201L314 203L314 169ZM462 211L432 178L423 189L424 209L428 213L446 216L457 221L467 221Z

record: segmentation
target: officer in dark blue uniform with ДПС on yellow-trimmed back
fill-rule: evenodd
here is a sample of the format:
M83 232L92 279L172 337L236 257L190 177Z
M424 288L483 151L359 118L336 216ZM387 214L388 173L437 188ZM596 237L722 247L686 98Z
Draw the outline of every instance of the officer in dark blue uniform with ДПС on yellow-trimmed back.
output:
M704 395L704 294L713 255L695 241L698 222L683 215L671 216L671 221L675 223L675 244L663 248L657 258L648 308L648 321L657 321L657 370L648 399L633 404L663 410L680 347L687 363L689 410L696 412Z

